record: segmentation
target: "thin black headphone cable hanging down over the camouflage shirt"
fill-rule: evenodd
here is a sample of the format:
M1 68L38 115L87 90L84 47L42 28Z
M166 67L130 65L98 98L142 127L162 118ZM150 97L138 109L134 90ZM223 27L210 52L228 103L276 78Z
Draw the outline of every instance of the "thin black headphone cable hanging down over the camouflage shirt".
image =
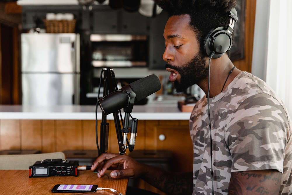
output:
M209 106L209 94L210 94L210 64L211 59L215 53L212 52L210 59L209 59L209 65L208 65L208 96L207 96L207 104L208 104L208 119L209 119L209 132L210 132L210 159L211 159L211 180L212 180L212 194L214 195L214 178L213 178L213 158L212 158L212 134L211 134L211 119L210 119L210 106Z

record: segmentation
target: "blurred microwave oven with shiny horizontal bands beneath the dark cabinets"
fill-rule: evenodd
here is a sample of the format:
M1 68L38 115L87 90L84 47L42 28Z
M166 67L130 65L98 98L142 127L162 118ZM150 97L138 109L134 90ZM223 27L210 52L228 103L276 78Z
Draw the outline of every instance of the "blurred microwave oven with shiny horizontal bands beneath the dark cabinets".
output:
M146 67L147 35L91 34L91 65L93 67Z

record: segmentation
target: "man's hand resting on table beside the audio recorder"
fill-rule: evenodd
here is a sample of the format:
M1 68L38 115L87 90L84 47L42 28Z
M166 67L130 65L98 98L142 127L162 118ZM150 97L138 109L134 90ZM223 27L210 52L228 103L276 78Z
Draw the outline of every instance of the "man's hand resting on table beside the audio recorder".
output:
M140 177L143 172L143 164L138 163L127 155L103 153L91 166L91 170L97 170L97 176L102 177L107 169L113 169L110 176L118 177Z

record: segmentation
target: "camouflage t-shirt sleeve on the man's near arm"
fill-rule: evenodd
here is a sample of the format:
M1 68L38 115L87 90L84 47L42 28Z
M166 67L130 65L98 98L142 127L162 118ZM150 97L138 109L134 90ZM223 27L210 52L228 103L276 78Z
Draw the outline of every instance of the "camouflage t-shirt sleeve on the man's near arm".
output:
M268 94L256 94L240 103L226 131L232 172L274 169L283 173L288 117Z

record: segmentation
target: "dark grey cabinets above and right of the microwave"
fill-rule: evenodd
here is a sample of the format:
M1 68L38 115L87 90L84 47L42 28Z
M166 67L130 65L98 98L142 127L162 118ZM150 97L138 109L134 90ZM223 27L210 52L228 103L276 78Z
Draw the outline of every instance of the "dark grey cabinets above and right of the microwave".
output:
M93 10L92 34L143 34L148 36L148 68L165 69L162 58L165 48L164 26L168 20L165 11L154 18L145 17L138 12L113 11L109 8Z

